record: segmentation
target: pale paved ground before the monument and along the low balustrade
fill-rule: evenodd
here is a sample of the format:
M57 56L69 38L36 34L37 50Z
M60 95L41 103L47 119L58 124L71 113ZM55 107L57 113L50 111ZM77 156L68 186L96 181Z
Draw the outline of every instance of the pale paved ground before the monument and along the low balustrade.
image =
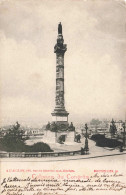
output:
M61 151L74 151L80 150L81 147L84 146L84 139L82 139L82 143L65 143L65 144L53 144L50 143L52 149L55 152ZM120 152L118 148L110 149L110 148L102 148L95 146L95 142L89 140L89 154L86 155L74 155L74 156L59 156L59 157L42 157L42 158L3 158L2 161L67 161L67 160L81 160L81 159L90 159L90 158L102 158L108 156L118 157L123 155L123 158L126 159L126 151ZM125 156L125 157L124 157Z

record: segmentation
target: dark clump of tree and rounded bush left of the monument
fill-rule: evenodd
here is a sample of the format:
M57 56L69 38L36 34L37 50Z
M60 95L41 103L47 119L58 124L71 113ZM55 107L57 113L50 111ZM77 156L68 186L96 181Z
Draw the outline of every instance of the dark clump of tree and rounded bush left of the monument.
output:
M25 145L24 132L20 129L20 124L16 122L12 128L8 129L6 135L0 139L0 150L6 152L52 152L50 146L39 142L31 146Z

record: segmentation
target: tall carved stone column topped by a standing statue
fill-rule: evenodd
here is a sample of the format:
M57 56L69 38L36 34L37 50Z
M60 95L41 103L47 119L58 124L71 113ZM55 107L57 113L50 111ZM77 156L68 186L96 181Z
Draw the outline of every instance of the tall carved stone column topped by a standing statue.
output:
M69 113L65 110L64 101L64 54L67 50L66 44L62 35L62 25L58 25L57 44L54 47L56 53L56 96L55 109L52 113L53 121L68 122Z

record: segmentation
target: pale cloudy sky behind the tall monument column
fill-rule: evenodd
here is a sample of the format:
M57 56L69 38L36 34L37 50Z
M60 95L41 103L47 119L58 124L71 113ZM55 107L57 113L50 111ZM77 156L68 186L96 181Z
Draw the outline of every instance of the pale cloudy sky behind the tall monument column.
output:
M122 0L0 1L0 123L43 125L55 107L58 23L69 122L124 119L126 3Z

